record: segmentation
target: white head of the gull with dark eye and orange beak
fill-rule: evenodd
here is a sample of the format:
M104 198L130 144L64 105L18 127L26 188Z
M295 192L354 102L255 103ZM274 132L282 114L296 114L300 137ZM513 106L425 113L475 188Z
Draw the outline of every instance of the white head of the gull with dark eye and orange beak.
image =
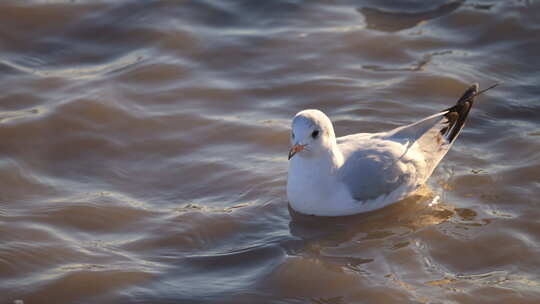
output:
M319 110L298 112L292 121L289 159L298 154L313 157L331 151L336 144L332 122Z

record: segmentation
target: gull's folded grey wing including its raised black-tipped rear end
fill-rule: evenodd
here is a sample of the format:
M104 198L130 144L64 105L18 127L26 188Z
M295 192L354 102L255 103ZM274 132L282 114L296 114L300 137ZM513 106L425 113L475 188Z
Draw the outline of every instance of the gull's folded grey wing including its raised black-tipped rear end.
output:
M345 159L339 177L352 197L371 200L399 188L401 199L415 191L461 132L477 93L474 84L453 107L390 132L338 138Z

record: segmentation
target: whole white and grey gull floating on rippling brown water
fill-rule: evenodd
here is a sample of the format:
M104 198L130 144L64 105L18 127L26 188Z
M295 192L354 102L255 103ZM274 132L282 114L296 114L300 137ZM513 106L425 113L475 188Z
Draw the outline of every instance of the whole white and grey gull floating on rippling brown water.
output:
M380 133L336 138L322 111L298 112L290 138L290 206L307 215L344 216L381 209L412 195L456 140L476 96L488 89L479 92L475 83L454 106Z

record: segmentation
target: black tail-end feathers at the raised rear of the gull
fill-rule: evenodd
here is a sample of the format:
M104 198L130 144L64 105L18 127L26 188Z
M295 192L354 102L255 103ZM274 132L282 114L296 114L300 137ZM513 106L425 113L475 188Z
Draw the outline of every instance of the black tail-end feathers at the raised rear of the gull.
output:
M444 117L448 120L448 125L441 129L441 134L446 138L448 143L453 143L459 132L461 132L461 129L463 129L469 111L473 106L476 96L479 94L479 88L478 83L474 83L463 93L454 106L443 111L447 112L444 114Z

